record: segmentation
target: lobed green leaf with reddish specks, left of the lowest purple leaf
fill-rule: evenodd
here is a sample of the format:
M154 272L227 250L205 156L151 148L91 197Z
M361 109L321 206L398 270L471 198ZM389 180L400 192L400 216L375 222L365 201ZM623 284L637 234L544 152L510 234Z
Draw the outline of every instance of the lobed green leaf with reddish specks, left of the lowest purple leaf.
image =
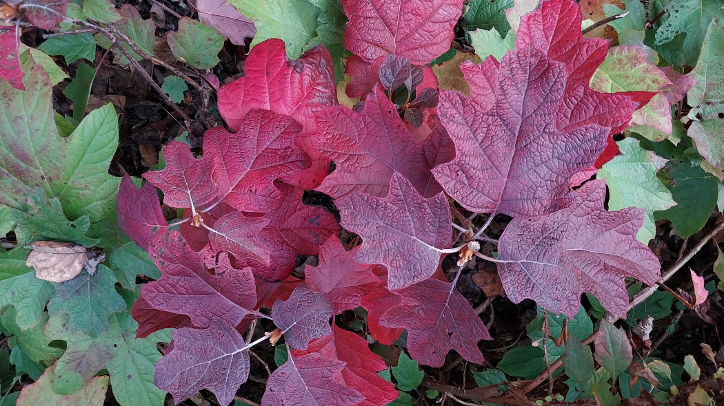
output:
M68 345L56 366L55 392L72 394L105 369L121 406L163 405L166 392L153 385L153 363L161 358L156 342L169 341L170 334L162 330L136 340L137 327L130 314L116 313L109 331L93 338L72 332L67 315L51 317L46 332Z

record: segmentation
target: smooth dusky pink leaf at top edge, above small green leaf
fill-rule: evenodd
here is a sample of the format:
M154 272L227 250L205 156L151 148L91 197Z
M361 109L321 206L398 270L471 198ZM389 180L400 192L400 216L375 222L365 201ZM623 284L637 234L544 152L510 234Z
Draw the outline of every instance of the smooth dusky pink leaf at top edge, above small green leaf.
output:
M195 0L198 20L224 35L236 45L245 45L246 38L256 35L254 23L227 3L227 0Z

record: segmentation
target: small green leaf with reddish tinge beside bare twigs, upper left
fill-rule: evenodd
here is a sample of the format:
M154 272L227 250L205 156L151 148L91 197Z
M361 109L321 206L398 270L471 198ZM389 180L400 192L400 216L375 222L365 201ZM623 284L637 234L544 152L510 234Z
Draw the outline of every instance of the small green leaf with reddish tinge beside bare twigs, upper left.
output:
M196 69L209 69L219 63L216 56L224 46L224 37L189 17L179 20L179 30L169 31L166 38L176 59Z

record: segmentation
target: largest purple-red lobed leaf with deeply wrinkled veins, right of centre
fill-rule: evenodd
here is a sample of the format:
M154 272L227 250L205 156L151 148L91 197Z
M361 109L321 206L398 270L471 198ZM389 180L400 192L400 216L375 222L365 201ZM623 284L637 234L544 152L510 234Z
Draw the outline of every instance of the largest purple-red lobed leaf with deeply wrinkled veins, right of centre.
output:
M568 73L534 48L507 53L497 76L489 111L460 92L440 95L437 109L456 154L432 170L435 178L474 212L516 217L560 210L573 199L571 176L601 155L609 128L557 128Z

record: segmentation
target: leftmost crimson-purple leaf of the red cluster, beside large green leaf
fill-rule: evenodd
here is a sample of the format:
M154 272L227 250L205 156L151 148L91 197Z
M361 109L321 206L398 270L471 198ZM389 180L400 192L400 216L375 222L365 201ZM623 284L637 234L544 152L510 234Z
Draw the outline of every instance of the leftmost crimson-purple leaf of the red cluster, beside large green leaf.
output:
M151 251L153 234L169 227L153 184L146 183L139 190L129 176L124 176L116 205L118 224L123 231L144 251Z

